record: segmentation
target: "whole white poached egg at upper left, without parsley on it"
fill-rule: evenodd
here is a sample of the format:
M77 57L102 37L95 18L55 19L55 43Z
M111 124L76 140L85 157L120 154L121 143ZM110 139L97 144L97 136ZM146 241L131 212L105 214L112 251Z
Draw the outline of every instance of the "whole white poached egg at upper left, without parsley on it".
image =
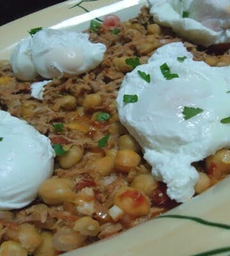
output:
M48 79L70 77L97 67L105 51L105 45L91 43L86 33L42 29L17 45L11 65L22 81L37 75Z

